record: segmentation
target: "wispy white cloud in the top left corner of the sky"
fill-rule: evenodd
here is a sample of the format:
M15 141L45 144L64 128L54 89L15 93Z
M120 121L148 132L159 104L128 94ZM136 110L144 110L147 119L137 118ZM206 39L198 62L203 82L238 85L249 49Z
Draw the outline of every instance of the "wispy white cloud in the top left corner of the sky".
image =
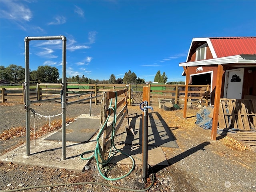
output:
M1 1L1 18L30 21L32 18L31 10L24 4L14 1Z

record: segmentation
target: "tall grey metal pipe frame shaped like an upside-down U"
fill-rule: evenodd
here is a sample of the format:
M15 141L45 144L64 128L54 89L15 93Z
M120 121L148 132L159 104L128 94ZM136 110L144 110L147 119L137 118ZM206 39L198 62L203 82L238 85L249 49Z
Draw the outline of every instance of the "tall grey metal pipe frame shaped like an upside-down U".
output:
M25 110L26 110L26 154L30 156L30 90L29 90L29 41L31 40L62 40L62 84L64 85L62 97L62 160L66 159L66 37L42 36L25 37Z

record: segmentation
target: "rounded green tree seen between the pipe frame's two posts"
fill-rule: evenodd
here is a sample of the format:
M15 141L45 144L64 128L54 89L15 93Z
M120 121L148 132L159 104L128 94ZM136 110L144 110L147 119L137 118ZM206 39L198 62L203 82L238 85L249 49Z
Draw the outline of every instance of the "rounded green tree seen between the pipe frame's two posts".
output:
M58 69L51 66L38 66L37 69L38 81L42 83L58 82L60 76Z

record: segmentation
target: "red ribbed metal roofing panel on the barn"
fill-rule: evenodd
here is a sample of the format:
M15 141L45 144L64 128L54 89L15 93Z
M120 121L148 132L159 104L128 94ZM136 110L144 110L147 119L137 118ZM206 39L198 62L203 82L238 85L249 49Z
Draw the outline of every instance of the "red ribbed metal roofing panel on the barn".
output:
M216 37L209 39L218 58L256 54L256 37Z

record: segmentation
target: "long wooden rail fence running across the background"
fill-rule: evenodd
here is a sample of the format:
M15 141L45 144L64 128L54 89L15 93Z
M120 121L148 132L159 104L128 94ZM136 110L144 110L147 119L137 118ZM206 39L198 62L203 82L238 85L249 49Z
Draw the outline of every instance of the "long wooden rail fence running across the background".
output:
M173 103L182 105L185 99L185 85L165 85L165 84L86 84L86 83L67 83L66 96L75 96L91 92L93 96L101 94L103 91L115 91L128 89L128 105L133 104L132 98L136 92L141 96L143 86L149 86L149 104L159 105L160 101L172 100ZM48 97L60 97L62 90L61 84L40 83L30 88L30 99L41 100ZM24 90L22 88L2 88L0 97L2 102L12 101L12 96L20 96L20 102L24 102ZM89 96L89 95L87 95ZM79 97L79 96L78 96ZM99 100L94 98L95 104ZM210 85L188 85L188 106L202 104L208 106L210 102Z

